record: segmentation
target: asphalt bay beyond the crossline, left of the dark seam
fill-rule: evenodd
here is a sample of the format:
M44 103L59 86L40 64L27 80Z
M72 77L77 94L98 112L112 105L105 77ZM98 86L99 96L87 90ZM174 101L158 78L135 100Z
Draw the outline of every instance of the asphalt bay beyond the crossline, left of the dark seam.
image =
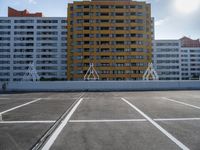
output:
M57 120L74 101L74 99L40 100L20 109L3 114L2 118L4 121Z

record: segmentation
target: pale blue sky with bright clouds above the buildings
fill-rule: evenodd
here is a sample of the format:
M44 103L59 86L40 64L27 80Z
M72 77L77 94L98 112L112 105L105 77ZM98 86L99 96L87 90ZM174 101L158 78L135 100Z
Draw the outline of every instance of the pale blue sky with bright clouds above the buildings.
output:
M17 10L43 12L46 17L66 17L67 4L72 1L0 0L0 16L7 16L7 9L10 6ZM151 3L152 17L155 18L156 39L179 39L183 36L200 38L200 0L146 1Z

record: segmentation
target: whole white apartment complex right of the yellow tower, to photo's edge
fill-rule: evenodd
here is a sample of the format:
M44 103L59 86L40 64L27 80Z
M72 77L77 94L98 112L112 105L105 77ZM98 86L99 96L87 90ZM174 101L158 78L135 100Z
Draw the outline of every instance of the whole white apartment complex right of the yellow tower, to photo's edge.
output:
M186 37L182 38L185 39ZM155 40L154 68L160 80L198 80L200 77L200 46L198 41ZM191 43L197 43L195 46Z

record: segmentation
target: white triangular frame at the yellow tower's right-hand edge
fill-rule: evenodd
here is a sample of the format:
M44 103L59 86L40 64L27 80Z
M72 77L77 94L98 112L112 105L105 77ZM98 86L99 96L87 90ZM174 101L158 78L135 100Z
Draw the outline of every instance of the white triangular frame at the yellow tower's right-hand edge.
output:
M143 80L159 80L159 76L152 63L149 63L149 66L143 75Z

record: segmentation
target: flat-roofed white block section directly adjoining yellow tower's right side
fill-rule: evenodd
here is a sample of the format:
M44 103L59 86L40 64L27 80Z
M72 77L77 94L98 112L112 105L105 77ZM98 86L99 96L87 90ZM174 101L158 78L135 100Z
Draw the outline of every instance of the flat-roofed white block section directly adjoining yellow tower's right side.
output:
M181 79L180 46L179 40L154 41L153 62L160 80Z

